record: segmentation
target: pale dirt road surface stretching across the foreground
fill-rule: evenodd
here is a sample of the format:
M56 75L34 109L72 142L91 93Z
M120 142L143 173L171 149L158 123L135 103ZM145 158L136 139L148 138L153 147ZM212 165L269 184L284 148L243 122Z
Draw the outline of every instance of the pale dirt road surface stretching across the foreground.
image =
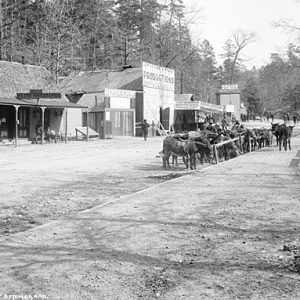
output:
M190 174L161 146L1 147L0 299L299 299L300 137Z

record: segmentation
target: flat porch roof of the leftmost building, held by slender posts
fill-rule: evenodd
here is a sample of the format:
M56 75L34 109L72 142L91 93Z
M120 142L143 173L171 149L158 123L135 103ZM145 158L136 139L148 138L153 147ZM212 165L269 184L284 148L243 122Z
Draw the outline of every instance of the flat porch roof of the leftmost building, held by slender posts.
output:
M76 103L63 101L63 100L53 100L53 99L40 99L37 100L19 100L16 98L5 98L0 97L0 105L19 105L19 106L29 106L29 107L48 107L48 108L87 108L87 106L82 106Z

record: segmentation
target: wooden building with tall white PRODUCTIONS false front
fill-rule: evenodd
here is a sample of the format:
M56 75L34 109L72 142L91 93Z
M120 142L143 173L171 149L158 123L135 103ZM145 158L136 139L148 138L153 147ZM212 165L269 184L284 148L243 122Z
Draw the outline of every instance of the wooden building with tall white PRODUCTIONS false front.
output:
M174 74L174 70L143 63L139 68L79 72L64 79L62 85L72 103L88 106L89 116L83 118L101 137L110 136L109 126L111 135L131 135L131 120L135 124L133 134L141 135L139 124L144 119L151 125L151 136L159 126L169 130L173 125ZM135 97L131 93L128 98L125 91L134 92Z

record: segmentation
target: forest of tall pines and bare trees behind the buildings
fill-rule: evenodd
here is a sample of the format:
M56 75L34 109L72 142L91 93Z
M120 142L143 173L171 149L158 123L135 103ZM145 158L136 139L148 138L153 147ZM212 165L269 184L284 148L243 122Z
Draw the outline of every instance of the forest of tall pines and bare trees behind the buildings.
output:
M256 33L238 30L220 64L209 40L191 36L199 17L182 0L0 0L0 60L44 66L57 83L72 72L146 61L174 69L175 92L203 102L216 103L222 84L238 84L250 114L300 110L299 43L247 70L241 54ZM299 32L300 41L297 26L274 26Z

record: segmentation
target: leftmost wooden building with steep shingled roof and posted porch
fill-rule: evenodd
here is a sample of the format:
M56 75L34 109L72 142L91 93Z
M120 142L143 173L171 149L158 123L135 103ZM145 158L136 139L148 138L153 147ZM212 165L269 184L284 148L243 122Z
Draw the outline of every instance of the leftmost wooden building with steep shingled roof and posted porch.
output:
M0 140L2 143L31 141L41 123L56 135L69 136L67 109L81 111L60 93L46 69L0 61ZM77 124L80 126L81 123ZM44 139L42 139L42 142Z

